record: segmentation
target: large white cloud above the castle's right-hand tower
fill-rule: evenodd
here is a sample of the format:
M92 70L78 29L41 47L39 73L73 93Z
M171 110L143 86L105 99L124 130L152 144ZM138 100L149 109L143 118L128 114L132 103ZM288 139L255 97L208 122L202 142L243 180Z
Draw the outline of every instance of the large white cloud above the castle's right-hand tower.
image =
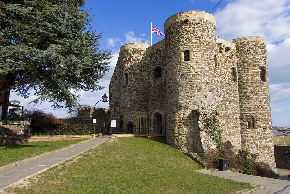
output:
M281 42L290 36L289 11L289 0L231 1L214 13L217 34L226 40L263 36L270 43Z

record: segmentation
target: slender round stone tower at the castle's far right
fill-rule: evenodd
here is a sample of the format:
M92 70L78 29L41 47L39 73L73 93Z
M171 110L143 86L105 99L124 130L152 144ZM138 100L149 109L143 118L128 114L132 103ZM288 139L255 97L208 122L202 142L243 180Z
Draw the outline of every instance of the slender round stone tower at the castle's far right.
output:
M266 40L251 36L236 43L242 149L276 171L267 68Z

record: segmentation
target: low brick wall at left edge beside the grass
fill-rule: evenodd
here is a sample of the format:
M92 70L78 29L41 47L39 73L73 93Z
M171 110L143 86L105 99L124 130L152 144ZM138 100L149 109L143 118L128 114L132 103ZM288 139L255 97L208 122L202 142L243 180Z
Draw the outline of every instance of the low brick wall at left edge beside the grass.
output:
M0 125L0 144L29 141L30 125Z

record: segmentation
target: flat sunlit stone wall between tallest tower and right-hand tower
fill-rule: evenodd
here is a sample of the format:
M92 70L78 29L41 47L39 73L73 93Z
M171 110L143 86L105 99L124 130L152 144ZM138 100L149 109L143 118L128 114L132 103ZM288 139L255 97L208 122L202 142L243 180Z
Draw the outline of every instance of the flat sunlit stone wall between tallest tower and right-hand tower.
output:
M222 142L229 141L234 149L241 149L238 76L232 79L232 68L237 72L235 44L216 38L216 67L218 75L219 126Z

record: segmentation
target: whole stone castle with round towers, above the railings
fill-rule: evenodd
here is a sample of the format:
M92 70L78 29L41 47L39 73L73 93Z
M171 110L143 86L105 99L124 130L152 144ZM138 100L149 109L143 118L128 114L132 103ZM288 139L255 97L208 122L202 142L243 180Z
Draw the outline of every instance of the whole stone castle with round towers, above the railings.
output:
M203 11L175 14L164 29L152 46L120 48L109 95L116 116L166 118L172 147L201 154L226 142L276 171L266 40L218 38Z

